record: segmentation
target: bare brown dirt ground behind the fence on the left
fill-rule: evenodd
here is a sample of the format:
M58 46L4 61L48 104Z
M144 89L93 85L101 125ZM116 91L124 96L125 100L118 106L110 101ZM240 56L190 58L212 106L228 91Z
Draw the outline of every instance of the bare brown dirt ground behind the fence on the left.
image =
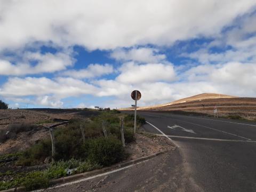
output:
M51 126L57 124L54 119L87 118L97 111L82 111L76 109L0 109L0 130L10 124L29 123ZM15 139L0 143L0 155L24 150L33 143L50 137L45 129L21 132Z

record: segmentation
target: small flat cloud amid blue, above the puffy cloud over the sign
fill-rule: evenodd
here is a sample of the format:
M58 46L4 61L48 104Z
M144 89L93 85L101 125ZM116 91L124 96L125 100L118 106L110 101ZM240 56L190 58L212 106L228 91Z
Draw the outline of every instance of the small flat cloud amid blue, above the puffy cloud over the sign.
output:
M138 62L159 62L166 58L164 54L158 54L158 50L140 47L131 50L116 49L111 53L111 57L121 61L138 61Z

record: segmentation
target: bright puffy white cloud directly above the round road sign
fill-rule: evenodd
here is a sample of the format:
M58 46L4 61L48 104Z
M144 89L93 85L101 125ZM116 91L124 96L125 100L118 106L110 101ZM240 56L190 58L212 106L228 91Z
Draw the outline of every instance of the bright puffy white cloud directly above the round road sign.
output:
M148 63L138 65L134 62L127 62L119 69L121 74L116 78L122 83L174 81L175 72L171 63Z

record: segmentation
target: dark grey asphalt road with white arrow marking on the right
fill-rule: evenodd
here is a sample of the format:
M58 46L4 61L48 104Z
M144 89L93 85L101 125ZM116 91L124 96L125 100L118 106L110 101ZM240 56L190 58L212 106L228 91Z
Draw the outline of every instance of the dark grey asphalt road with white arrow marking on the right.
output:
M179 146L201 191L256 191L256 123L138 111ZM153 126L152 126L153 125ZM154 127L155 126L155 127Z

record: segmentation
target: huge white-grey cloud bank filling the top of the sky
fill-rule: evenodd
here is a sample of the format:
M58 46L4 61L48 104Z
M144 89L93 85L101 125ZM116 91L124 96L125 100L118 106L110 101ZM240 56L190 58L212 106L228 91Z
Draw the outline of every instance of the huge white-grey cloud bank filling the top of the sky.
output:
M0 50L33 42L82 45L90 50L218 34L254 0L1 1Z

